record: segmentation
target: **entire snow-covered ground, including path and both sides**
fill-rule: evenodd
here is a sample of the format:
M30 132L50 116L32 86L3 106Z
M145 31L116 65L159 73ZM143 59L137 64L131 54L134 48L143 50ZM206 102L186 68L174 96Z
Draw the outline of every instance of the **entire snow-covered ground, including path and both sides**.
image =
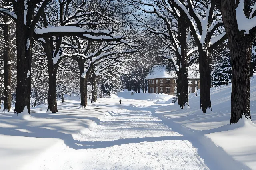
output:
M251 84L252 121L236 125L229 125L231 85L211 89L205 115L194 93L180 109L170 95L127 91L86 109L73 97L58 113L45 113L47 105L31 116L0 113L0 169L256 169L256 77Z

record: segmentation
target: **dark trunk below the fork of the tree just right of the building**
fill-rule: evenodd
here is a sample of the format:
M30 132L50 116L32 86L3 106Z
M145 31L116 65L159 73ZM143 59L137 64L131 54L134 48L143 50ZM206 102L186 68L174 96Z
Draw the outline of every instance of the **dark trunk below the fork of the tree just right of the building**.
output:
M199 51L199 75L200 75L200 106L203 113L206 109L212 108L210 95L210 58L206 51L198 49Z

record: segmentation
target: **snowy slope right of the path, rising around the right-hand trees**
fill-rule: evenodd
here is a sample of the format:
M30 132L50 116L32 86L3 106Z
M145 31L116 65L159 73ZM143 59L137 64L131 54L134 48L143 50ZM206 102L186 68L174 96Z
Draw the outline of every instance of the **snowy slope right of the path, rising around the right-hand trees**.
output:
M166 125L169 123L170 126L176 127L176 132L184 136L193 134L190 136L191 138L201 138L200 141L192 142L192 144L198 148L199 156L204 158L210 169L215 166L214 161L203 155L212 141L215 144L212 146L212 151L214 150L214 152L211 151L212 155L216 154L218 157L222 153L220 159L217 160L218 164L223 163L222 167L227 164L225 161L231 157L231 161L236 162L234 169L256 170L256 126L254 125L256 123L256 76L251 77L252 121L242 117L238 123L230 125L231 87L230 84L211 88L212 111L205 115L200 109L200 90L197 97L195 97L195 93L189 95L189 109L180 109L179 105L175 103L172 106L159 107L155 110L155 115L167 121ZM205 144L207 144L206 147L204 147ZM227 165L226 169L232 169L230 164Z

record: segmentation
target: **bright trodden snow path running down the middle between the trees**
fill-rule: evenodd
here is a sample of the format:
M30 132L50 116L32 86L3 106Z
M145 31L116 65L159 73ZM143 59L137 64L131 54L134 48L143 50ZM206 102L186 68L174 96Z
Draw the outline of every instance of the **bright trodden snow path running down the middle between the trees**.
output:
M140 102L148 101L105 105L109 111L97 124L91 123L72 134L74 140L57 142L23 169L208 170L191 142L164 125L146 107L137 107ZM98 106L96 103L92 108Z

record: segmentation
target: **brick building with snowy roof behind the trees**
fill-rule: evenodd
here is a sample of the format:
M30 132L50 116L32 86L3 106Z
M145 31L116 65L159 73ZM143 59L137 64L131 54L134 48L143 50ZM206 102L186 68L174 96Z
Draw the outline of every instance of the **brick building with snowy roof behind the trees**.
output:
M165 66L154 66L147 77L148 93L164 93L177 95L177 75L175 71L168 72ZM199 73L189 69L188 93L194 93L199 89Z

